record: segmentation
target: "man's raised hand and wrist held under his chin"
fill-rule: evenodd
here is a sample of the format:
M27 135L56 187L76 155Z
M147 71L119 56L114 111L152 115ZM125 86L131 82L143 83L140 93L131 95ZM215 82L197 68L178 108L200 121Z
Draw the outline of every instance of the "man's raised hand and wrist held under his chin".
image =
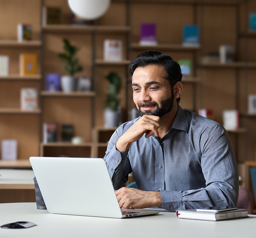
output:
M139 140L146 132L145 137L148 138L155 134L158 134L159 117L152 115L144 115L138 121L136 121L116 142L116 149L118 151L129 150L131 144Z

